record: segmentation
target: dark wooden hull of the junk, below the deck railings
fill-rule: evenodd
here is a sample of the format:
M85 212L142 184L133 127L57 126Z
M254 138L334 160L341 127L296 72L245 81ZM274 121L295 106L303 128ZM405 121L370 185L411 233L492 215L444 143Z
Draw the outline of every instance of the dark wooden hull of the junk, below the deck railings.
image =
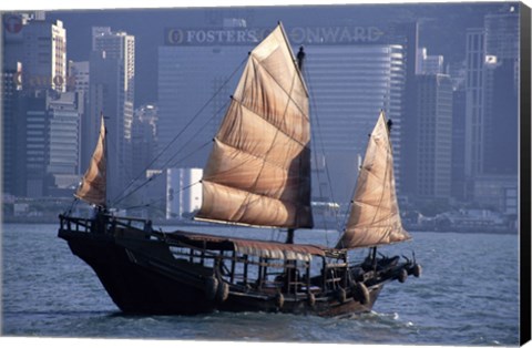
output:
M369 301L335 294L287 294L243 291L228 285L226 298L209 296L212 269L172 256L168 245L149 238L142 231L120 234L82 233L61 228L72 253L92 267L116 306L126 314L193 315L224 311L266 311L339 316L370 311L383 283L368 287Z

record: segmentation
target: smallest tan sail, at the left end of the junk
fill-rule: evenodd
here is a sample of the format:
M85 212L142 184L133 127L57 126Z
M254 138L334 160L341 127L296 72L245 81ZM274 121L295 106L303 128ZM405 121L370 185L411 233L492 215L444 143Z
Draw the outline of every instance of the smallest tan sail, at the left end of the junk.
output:
M80 187L74 194L75 197L95 204L105 206L106 196L106 141L105 141L105 124L103 115L100 125L100 136L98 139L96 147L92 154L89 168L83 175Z

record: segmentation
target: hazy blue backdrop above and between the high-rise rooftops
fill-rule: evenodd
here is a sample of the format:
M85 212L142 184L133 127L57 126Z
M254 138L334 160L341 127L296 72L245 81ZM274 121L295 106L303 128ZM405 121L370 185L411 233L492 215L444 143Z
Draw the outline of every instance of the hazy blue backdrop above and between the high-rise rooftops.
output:
M245 18L248 27L273 28L279 20L289 31L293 27L379 25L395 21L420 21L420 47L429 54L443 54L449 62L459 61L466 47L466 31L483 25L483 14L497 12L501 3L442 4L352 4L352 6L287 6L236 8L173 8L132 10L51 11L50 19L62 18L69 28L69 59L86 60L91 50L91 28L113 27L136 38L137 83L135 101L139 105L156 100L156 51L166 40L167 28L221 27L223 18ZM463 44L462 44L463 43ZM463 59L463 58L462 58Z

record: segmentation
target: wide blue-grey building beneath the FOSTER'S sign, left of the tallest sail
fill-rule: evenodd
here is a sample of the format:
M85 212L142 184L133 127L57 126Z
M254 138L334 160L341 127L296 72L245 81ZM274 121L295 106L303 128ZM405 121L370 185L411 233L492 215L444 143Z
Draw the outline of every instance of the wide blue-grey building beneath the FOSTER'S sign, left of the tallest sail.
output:
M248 51L246 45L158 48L158 145L167 147L160 168L205 165L211 150L205 144L211 144L236 86L237 76L229 80L231 73L242 70ZM192 151L197 154L182 162Z

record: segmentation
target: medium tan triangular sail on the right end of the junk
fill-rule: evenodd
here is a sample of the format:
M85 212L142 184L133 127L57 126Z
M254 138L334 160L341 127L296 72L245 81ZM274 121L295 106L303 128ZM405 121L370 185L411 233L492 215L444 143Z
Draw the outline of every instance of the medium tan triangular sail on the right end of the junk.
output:
M410 239L402 228L393 177L393 158L383 112L369 137L351 212L337 248L356 248Z

